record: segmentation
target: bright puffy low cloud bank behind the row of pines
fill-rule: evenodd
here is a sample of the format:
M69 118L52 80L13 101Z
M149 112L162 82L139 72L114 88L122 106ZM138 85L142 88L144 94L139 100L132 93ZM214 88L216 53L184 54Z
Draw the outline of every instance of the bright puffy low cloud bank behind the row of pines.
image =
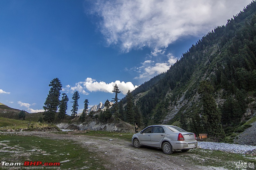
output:
M132 82L124 82L124 81L119 81L116 80L115 82L111 83L105 83L103 81L97 82L95 79L92 78L86 78L84 82L78 82L76 83L75 86L66 86L67 91L78 91L82 92L83 94L87 95L89 94L85 90L88 90L89 92L108 92L108 93L113 93L112 90L114 89L114 86L117 85L118 89L123 93L126 94L128 90L132 91L137 85L133 85Z

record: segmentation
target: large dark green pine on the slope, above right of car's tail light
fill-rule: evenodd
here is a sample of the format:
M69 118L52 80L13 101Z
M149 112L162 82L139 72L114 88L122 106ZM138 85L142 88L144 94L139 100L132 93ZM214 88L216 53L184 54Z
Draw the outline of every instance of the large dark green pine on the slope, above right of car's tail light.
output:
M220 137L225 137L225 133L220 122L220 109L217 107L216 101L212 96L213 90L210 82L205 80L200 82L198 93L201 95L201 101L203 103L206 129L209 130L210 135L217 137L219 141Z

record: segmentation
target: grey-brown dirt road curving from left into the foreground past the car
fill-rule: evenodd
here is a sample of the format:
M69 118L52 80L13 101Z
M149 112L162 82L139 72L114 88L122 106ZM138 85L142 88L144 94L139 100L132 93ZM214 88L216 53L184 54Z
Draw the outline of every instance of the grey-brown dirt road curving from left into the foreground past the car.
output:
M17 133L17 132L16 132ZM182 158L183 154L178 152L175 155L166 155L161 149L141 147L136 149L131 142L123 139L106 137L91 137L72 134L54 134L48 132L18 132L22 135L33 135L51 139L68 139L76 141L82 147L95 152L103 160L107 169L209 169L202 166L195 166Z

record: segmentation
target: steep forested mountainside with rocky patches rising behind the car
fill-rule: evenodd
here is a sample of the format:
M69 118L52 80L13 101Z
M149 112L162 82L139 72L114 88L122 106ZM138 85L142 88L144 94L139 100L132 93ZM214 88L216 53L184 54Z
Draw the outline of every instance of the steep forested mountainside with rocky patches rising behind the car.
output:
M204 132L204 110L198 94L202 80L214 88L212 95L224 128L255 115L255 1L228 19L225 26L198 40L166 73L132 92L135 96L147 91L136 100L144 125L170 123Z

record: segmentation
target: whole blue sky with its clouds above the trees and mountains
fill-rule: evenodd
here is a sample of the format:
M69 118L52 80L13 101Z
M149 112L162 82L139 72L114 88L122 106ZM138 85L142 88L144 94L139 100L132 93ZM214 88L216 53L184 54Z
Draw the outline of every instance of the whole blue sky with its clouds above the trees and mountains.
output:
M48 86L96 105L123 98L166 71L198 39L225 25L250 0L2 0L0 102L43 111Z

